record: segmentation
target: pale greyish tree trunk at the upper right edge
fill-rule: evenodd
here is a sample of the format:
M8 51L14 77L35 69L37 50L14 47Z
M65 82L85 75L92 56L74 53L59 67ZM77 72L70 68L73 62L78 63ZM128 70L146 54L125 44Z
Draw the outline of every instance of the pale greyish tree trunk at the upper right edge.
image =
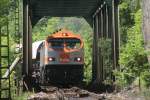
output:
M142 0L143 34L146 50L150 51L150 0ZM150 62L150 56L148 56Z

